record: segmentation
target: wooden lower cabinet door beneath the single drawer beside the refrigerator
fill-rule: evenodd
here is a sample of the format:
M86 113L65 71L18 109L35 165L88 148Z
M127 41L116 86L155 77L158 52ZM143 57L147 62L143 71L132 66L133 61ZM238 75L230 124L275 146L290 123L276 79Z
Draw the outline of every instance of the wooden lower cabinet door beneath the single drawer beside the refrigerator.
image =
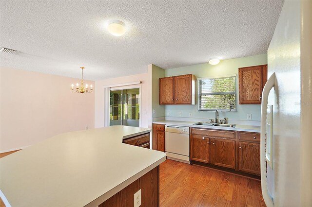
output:
M260 175L260 144L239 142L239 170Z

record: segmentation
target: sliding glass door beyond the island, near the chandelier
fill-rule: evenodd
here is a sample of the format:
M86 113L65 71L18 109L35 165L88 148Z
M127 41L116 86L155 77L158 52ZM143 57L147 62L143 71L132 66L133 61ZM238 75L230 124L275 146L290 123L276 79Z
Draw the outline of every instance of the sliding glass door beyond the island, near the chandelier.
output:
M140 126L140 88L110 90L110 126Z

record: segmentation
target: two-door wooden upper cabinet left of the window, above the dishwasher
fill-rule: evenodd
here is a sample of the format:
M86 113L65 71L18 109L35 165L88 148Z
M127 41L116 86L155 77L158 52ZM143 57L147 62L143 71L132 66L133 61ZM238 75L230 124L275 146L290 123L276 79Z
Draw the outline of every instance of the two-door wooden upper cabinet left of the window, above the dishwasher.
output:
M159 104L195 104L195 75L159 78Z

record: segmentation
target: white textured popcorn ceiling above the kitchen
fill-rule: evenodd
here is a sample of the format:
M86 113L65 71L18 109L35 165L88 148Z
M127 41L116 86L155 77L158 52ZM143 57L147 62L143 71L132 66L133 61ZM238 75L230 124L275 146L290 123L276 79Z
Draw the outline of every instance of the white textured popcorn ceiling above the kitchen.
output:
M0 1L0 65L100 80L267 52L281 0ZM105 22L127 25L121 37Z

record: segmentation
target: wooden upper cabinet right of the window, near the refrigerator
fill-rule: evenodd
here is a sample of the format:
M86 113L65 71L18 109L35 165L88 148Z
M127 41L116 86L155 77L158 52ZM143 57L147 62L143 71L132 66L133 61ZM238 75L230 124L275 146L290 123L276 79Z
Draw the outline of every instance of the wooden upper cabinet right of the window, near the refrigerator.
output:
M262 90L267 82L267 65L238 69L239 104L261 104Z

